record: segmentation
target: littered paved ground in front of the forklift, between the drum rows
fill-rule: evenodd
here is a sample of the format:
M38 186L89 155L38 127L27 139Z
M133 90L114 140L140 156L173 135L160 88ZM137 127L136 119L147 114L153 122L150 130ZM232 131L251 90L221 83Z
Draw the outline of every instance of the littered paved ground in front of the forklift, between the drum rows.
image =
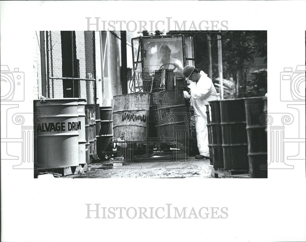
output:
M120 158L88 164L88 171L65 178L211 178L209 160L182 157L177 161L151 160L127 163Z

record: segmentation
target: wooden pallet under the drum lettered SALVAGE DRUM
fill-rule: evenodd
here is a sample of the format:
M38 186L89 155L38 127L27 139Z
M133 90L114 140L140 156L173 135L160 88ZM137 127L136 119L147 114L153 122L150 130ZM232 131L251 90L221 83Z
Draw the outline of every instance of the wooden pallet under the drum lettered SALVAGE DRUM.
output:
M34 169L34 178L37 178L39 174L43 173L53 173L60 174L62 176L68 176L73 174L78 174L79 172L88 171L88 165L82 164L77 167L58 167L58 168L38 168Z

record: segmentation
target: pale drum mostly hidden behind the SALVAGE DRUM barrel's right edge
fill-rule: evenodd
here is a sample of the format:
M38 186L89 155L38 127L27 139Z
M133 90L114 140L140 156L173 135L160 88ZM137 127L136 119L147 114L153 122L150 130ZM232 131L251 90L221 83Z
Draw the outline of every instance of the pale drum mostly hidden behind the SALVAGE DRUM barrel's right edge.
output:
M85 104L86 100L79 98L77 106L79 132L79 164L86 163L86 131L85 131Z

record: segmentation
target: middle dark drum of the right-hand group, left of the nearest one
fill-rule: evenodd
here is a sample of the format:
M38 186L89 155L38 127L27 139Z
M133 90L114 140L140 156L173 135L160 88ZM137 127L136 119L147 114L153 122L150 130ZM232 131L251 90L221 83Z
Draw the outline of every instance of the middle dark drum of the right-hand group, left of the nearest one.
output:
M248 170L248 138L244 99L220 100L225 170Z

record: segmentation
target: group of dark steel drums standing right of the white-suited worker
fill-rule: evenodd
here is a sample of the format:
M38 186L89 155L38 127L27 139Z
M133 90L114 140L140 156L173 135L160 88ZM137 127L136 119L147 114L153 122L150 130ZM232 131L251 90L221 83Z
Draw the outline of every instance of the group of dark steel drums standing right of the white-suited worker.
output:
M226 99L207 105L210 156L214 169L249 170L267 178L267 97Z

